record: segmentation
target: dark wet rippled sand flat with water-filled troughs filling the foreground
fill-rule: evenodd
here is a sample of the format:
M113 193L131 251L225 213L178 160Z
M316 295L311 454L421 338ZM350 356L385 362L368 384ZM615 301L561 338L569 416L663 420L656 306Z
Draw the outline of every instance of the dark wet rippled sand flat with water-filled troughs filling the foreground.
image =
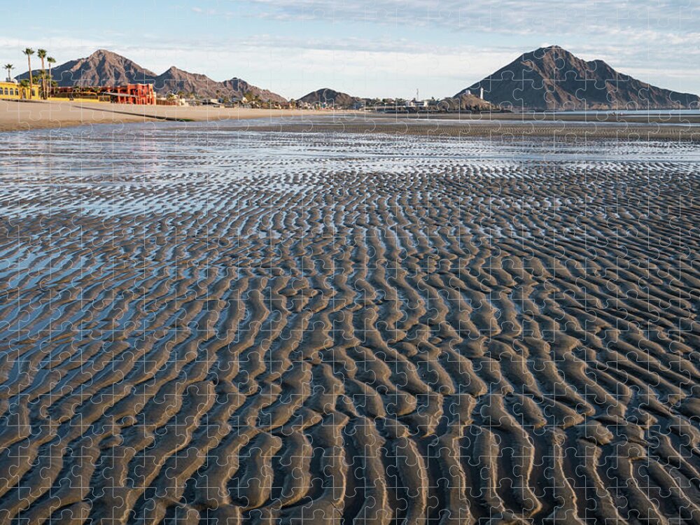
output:
M699 169L673 142L10 136L0 522L699 522Z

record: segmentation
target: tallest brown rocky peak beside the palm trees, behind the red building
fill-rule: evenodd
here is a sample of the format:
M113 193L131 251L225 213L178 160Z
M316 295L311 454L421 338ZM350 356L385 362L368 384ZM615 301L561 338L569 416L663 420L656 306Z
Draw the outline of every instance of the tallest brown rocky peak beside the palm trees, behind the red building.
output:
M32 71L39 70L37 59L34 59ZM98 49L92 55L77 60L69 60L52 69L52 77L59 86L71 85L119 85L129 83L153 82L155 73L139 66L136 62L117 55L106 49ZM29 78L29 71L18 75L22 80Z

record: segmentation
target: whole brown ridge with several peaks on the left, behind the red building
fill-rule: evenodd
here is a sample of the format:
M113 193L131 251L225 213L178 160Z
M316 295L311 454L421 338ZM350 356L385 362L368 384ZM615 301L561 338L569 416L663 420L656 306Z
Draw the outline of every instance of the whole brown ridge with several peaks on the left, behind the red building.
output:
M36 71L36 69L34 69ZM99 49L89 57L70 60L52 69L58 85L120 85L127 83L152 83L158 94L169 92L195 93L200 97L243 97L246 92L258 95L262 100L286 102L279 94L248 84L240 78L217 82L201 73L190 73L172 66L160 75L139 66L136 62L105 49ZM29 71L17 76L29 78Z

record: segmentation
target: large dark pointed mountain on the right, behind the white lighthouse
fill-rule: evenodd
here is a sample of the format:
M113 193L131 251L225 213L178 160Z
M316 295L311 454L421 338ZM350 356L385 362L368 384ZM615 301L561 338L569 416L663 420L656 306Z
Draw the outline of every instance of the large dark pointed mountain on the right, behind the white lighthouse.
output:
M512 109L679 109L700 104L697 95L664 90L615 71L602 60L586 62L558 45L525 53L455 96L477 94Z

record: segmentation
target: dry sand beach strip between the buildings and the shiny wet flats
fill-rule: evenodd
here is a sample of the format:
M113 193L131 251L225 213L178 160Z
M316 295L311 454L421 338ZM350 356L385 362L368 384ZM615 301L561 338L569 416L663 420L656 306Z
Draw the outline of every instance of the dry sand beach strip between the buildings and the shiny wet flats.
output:
M269 123L260 122L263 119ZM0 101L0 132L148 122L228 123L230 130L251 130L231 123L237 120L258 120L253 129L260 132L700 141L700 116L673 114L437 113L428 119L361 111Z

